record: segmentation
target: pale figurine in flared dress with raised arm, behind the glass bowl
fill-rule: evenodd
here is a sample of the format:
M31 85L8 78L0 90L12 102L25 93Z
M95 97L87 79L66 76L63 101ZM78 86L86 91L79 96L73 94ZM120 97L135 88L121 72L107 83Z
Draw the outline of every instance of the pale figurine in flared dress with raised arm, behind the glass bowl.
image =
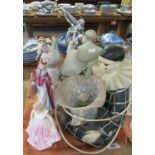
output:
M74 76L80 74L85 68L86 64L79 62L76 59L77 50L74 48L74 42L69 41L67 48L67 56L61 68L61 74L64 76Z

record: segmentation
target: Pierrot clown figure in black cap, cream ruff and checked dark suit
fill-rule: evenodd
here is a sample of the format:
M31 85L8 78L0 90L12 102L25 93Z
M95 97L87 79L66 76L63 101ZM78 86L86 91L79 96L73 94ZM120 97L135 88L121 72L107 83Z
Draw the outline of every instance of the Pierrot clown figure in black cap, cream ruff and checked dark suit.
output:
M132 83L132 66L125 59L124 48L119 45L109 45L104 49L102 57L99 57L98 64L92 67L93 74L101 78L106 86L106 101L113 107L109 111L110 116L114 116L124 110L130 102L129 91ZM107 104L105 102L105 105ZM121 103L121 104L118 104ZM106 141L107 135L113 135L119 125L122 125L124 116L103 124L98 129L87 131L82 137L82 141L88 144L100 143L103 139ZM102 124L102 123L101 123ZM108 133L109 132L109 133Z

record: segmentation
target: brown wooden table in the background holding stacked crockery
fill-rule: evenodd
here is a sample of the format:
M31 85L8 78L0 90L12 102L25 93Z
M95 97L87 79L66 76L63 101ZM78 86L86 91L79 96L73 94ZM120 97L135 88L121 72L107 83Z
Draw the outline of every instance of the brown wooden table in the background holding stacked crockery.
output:
M120 14L101 15L99 12L96 16L85 16L84 14L74 15L77 19L84 18L86 25L96 25L97 34L106 32L108 24L112 21L117 22L117 35L125 39L129 23L132 21L132 16L123 16ZM33 37L34 26L69 26L64 16L38 16L35 13L25 15L23 22L26 24L29 37Z

